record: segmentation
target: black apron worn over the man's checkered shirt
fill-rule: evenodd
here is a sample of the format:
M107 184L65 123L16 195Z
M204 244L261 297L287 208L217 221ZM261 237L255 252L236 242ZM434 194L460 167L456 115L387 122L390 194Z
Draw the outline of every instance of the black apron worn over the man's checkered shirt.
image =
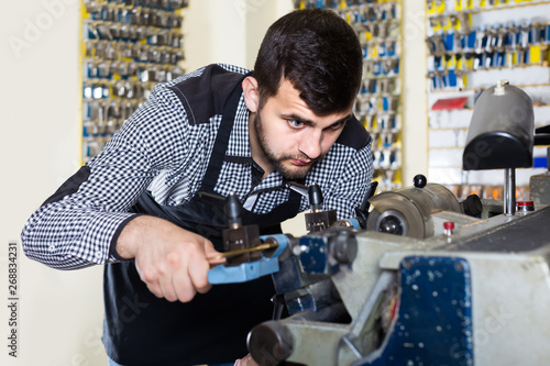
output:
M223 110L199 192L213 193L241 95L239 82ZM267 214L243 209L243 224L258 224L262 234L272 233L274 226L280 228L282 221L298 213L300 199L292 191L287 202ZM169 207L158 204L146 191L132 211L169 220L222 249L221 231L227 228L222 209L199 196ZM106 265L103 284L103 343L109 357L127 366L234 362L248 354L249 331L273 314L270 299L275 290L271 276L245 284L216 285L188 303L156 298L140 279L133 260Z

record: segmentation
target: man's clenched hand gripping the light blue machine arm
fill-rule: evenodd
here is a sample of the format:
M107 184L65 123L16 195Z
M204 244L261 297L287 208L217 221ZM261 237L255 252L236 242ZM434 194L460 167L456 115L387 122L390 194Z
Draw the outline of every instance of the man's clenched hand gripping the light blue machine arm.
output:
M210 290L207 258L219 254L207 239L148 215L124 226L117 252L135 259L140 278L156 297L182 302Z

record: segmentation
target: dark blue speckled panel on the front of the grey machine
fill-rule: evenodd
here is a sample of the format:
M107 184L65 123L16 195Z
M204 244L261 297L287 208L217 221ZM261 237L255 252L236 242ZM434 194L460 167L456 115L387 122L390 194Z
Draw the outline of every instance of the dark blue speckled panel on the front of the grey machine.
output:
M361 365L473 365L470 267L463 258L406 257L400 300L381 356ZM355 364L354 364L355 365Z

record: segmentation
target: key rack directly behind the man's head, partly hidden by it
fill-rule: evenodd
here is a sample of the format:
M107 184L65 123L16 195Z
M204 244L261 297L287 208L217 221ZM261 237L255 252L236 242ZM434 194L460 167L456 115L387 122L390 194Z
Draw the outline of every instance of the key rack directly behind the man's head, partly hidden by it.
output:
M354 113L373 137L373 179L378 191L402 187L402 1L295 1L305 8L332 9L358 33L364 68Z

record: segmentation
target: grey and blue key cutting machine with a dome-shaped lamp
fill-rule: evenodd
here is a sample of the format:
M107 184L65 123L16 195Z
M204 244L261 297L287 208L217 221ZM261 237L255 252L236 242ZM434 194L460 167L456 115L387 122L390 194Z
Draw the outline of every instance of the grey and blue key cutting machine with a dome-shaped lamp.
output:
M417 176L413 187L376 195L358 218L338 222L314 209L322 198L310 195L308 235L261 240L270 248L258 260L276 262L268 273L279 311L251 330L253 358L312 366L548 364L550 174L531 178L534 201L515 201L515 169L532 166L536 137L529 97L498 82L474 107L463 168L504 169L504 202L458 200ZM287 318L279 319L282 307Z

